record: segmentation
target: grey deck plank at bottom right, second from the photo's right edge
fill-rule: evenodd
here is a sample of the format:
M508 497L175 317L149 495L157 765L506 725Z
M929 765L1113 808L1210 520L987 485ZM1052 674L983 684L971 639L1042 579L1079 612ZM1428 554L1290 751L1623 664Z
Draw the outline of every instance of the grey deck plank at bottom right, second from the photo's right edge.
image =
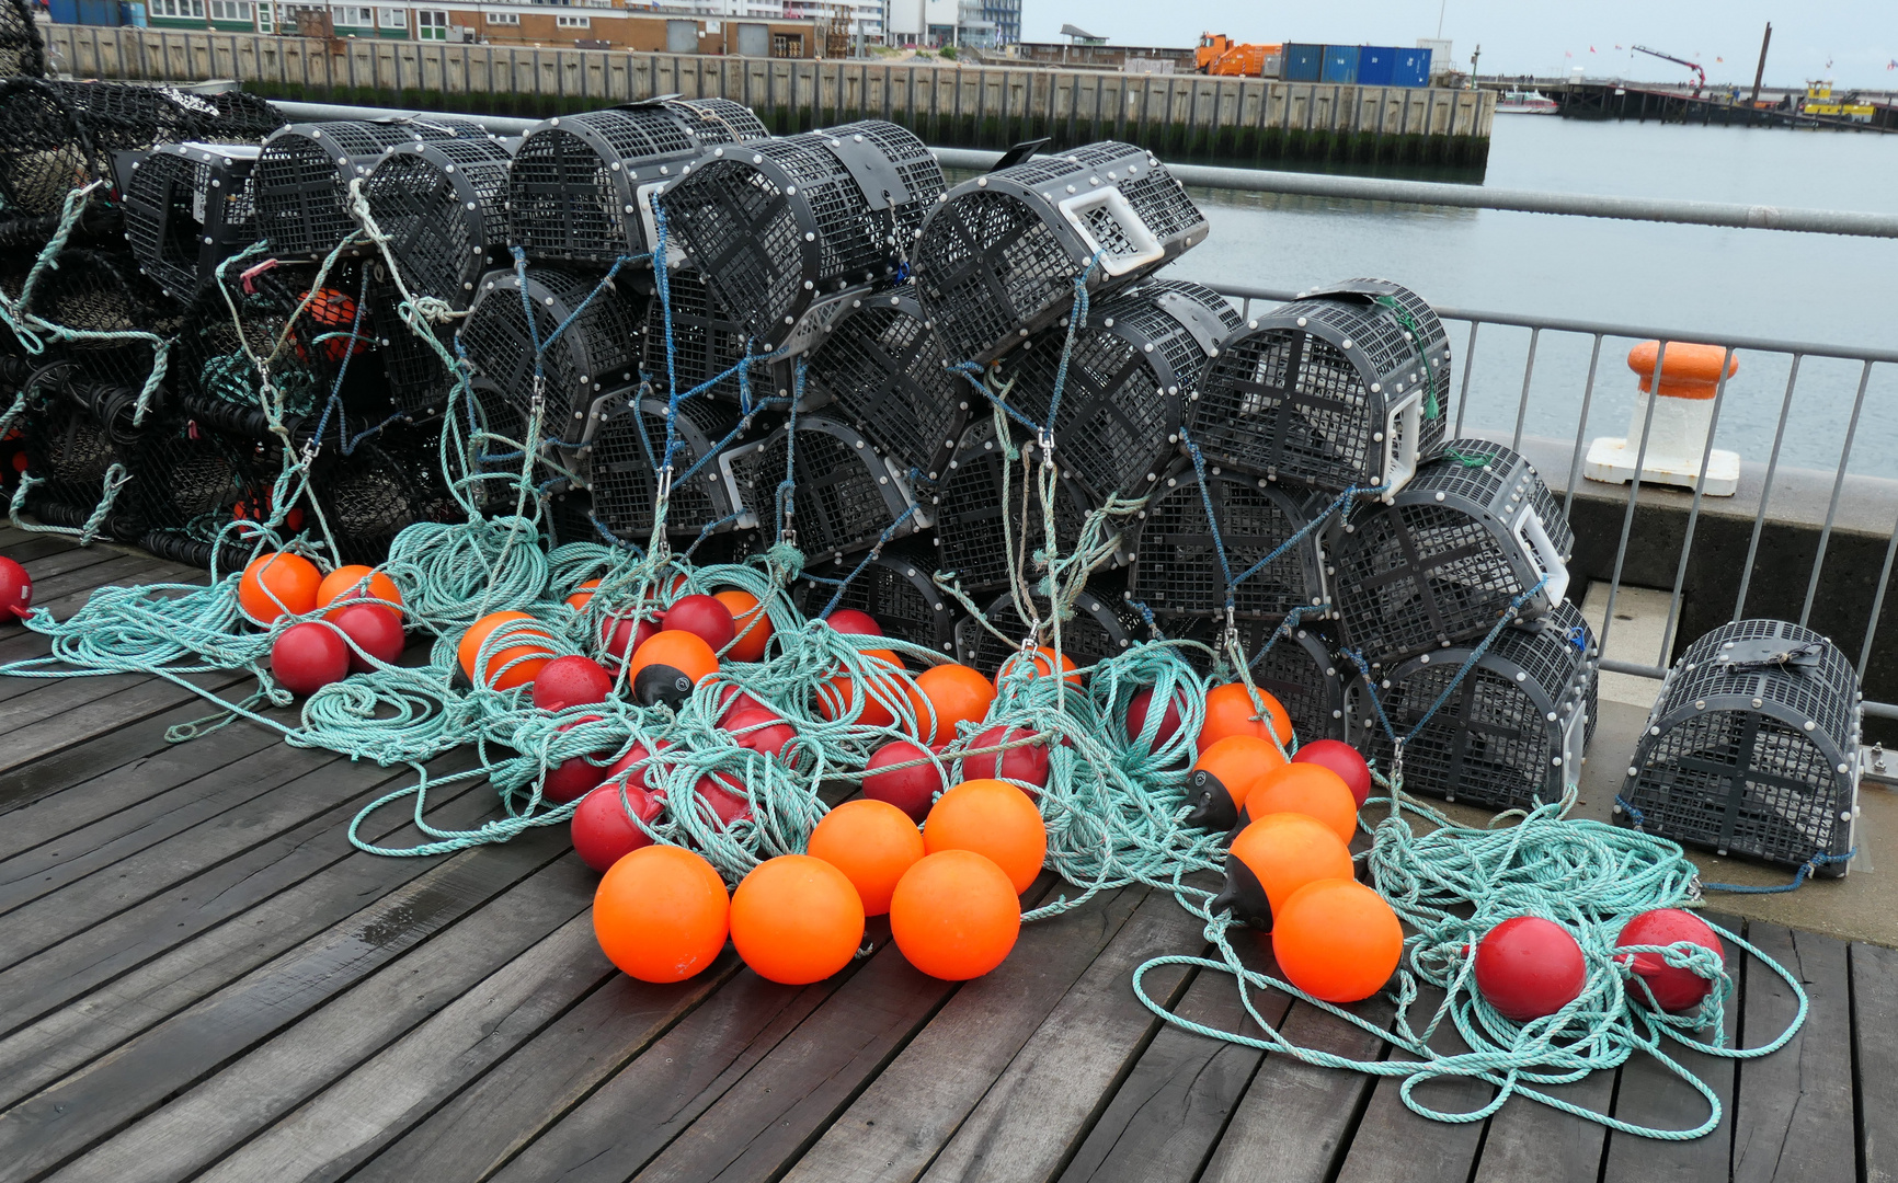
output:
M1784 1048L1740 1062L1733 1183L1851 1179L1858 1172L1858 1149L1845 942L1758 921L1746 925L1746 938L1805 986L1809 1010ZM1797 1007L1777 973L1748 965L1740 1022L1748 1046L1786 1029Z

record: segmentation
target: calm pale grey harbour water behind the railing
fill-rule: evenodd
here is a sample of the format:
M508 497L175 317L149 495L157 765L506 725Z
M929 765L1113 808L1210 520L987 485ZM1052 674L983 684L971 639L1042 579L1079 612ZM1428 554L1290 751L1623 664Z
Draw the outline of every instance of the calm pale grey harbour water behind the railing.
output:
M1750 205L1890 210L1898 136L1784 129L1583 123L1501 116L1484 184ZM1898 347L1898 241L1425 209L1258 193L1198 193L1213 237L1181 260L1184 279L1302 288L1376 275L1433 303L1482 311L1733 332L1830 345ZM1461 385L1467 326L1452 324ZM1484 326L1465 427L1509 430L1530 332ZM1587 434L1623 434L1630 339L1602 345ZM1541 336L1524 430L1573 438L1592 339ZM1788 360L1740 351L1716 446L1765 461ZM1860 362L1807 358L1782 463L1833 468ZM1871 368L1851 470L1898 478L1898 366Z

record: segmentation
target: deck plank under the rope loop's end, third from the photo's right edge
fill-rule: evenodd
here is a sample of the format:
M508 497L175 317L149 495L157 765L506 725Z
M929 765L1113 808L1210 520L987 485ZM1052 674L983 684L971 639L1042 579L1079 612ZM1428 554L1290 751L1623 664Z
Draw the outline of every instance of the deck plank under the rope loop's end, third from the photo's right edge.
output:
M1729 933L1740 931L1740 921L1733 916L1708 912L1706 918ZM1744 956L1727 944L1727 973L1740 982ZM1746 1005L1744 990L1727 1001L1725 1031L1733 1041L1739 1029L1740 1009ZM1602 1170L1604 1183L1642 1183L1646 1179L1666 1179L1670 1183L1725 1183L1731 1177L1733 1155L1733 1060L1708 1056L1682 1048L1676 1043L1663 1043L1663 1050L1682 1067L1701 1077L1720 1098L1723 1119L1720 1128L1706 1138L1693 1141L1661 1141L1655 1138L1630 1138L1625 1134L1608 1136L1608 1162ZM1634 1120L1657 1130L1691 1130L1706 1120L1706 1101L1691 1084L1685 1084L1661 1067L1653 1056L1634 1054L1621 1065L1621 1084L1615 1090L1615 1117Z

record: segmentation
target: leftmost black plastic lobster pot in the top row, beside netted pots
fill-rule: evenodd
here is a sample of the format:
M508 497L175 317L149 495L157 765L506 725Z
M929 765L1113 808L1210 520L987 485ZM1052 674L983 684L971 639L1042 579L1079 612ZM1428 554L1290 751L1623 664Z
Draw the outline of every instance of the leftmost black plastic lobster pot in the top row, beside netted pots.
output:
M159 144L118 154L125 241L139 271L190 300L218 264L256 241L252 144Z

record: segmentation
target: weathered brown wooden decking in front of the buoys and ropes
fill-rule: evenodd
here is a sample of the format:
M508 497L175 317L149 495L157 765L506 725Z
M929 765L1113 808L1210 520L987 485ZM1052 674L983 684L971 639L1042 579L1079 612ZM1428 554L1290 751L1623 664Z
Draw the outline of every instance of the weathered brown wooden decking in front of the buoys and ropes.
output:
M203 578L15 529L0 554L57 612L106 582ZM0 633L0 660L44 650ZM643 986L594 944L596 876L564 828L452 857L357 853L345 827L397 774L251 724L165 743L201 715L163 679L0 679L0 1183L1898 1177L1892 950L1750 925L1813 1012L1777 1056L1685 1056L1727 1103L1710 1138L1606 1136L1522 1101L1450 1126L1405 1109L1397 1081L1156 1022L1131 969L1201 948L1165 893L1031 925L964 986L913 971L875 921L877 952L816 986L772 986L729 952ZM492 813L486 789L435 804L442 825ZM380 821L416 838L400 810ZM1219 974L1148 988L1201 1022L1241 1018ZM1742 971L1735 1037L1790 1014L1775 978ZM1378 1054L1285 997L1268 1018ZM1568 1092L1701 1120L1653 1062ZM1484 1094L1422 1090L1442 1107Z

